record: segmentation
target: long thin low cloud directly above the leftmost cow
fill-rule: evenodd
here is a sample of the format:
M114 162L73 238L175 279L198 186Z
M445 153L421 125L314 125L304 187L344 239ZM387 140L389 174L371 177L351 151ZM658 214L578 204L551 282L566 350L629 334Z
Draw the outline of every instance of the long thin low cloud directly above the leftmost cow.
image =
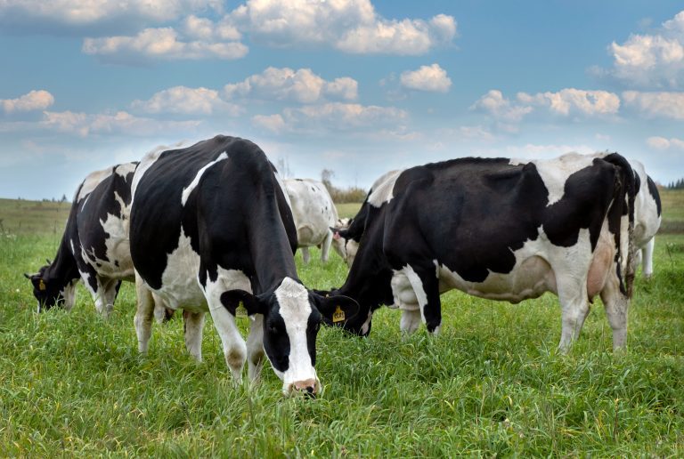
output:
M44 112L41 125L61 133L75 133L81 137L90 134L126 134L147 136L153 133L192 131L199 121L159 121L145 117L134 117L125 111L113 115L76 113L72 111Z

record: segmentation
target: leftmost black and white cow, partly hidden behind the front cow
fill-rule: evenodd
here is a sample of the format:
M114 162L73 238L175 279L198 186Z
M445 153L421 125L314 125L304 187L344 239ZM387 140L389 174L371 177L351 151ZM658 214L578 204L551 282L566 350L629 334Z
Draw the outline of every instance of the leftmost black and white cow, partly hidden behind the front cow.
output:
M30 279L38 311L60 305L70 310L83 279L95 308L106 318L122 280L134 280L128 249L127 206L137 163L88 174L74 196L66 229L53 262Z

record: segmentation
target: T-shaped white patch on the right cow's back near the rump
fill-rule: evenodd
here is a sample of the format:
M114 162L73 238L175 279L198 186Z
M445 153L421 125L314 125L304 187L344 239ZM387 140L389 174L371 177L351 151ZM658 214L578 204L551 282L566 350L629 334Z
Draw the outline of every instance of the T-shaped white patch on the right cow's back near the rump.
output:
M561 157L550 160L510 159L509 165L525 165L532 163L537 173L542 177L544 186L549 192L549 204L553 205L563 198L567 178L577 171L588 167L594 157L581 155L576 152L566 153Z

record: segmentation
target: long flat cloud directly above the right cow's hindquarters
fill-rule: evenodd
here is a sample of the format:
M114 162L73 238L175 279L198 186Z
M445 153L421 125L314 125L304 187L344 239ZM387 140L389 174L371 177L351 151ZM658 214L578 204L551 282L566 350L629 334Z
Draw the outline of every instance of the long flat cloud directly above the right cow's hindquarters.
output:
M620 109L620 98L607 91L585 91L566 88L558 93L517 93L517 100L525 105L537 105L558 115L580 112L583 115L612 115Z

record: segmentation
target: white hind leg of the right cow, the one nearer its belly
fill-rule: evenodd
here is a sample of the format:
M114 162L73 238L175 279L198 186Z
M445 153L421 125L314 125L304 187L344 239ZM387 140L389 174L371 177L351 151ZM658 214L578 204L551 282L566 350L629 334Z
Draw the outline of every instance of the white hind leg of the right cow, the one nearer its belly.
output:
M562 272L562 271L561 271ZM589 314L586 278L557 278L561 307L561 332L558 350L566 353L576 340Z

